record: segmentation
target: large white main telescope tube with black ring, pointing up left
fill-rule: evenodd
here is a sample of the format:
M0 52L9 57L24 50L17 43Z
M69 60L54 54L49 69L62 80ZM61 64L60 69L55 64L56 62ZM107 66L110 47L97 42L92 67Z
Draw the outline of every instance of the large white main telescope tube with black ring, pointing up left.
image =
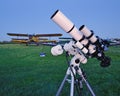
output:
M58 24L65 32L69 33L76 41L82 39L83 34L79 33L79 30L60 10L57 10L51 16L51 19L56 24Z

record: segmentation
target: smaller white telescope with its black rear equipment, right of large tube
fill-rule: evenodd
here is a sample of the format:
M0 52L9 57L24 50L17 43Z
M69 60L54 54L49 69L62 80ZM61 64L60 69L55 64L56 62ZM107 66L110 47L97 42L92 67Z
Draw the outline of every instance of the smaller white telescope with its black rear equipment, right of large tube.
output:
M98 60L101 61L100 65L102 67L107 67L110 65L110 58L105 56L104 54L104 48L105 43L104 41L96 37L93 33L93 31L89 30L85 25L82 25L79 30L84 34L84 36L91 42L92 45L95 45L95 52L91 54L92 57L96 57Z

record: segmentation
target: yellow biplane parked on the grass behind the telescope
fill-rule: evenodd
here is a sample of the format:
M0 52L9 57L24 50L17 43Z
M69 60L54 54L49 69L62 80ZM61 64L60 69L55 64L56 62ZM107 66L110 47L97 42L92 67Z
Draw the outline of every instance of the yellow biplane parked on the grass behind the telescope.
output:
M7 33L9 36L17 36L17 38L12 38L12 42L16 43L25 43L26 45L29 44L42 44L42 43L56 43L56 40L49 40L48 38L44 37L58 37L62 36L62 34L19 34L19 33ZM27 37L27 38L19 38L19 37Z

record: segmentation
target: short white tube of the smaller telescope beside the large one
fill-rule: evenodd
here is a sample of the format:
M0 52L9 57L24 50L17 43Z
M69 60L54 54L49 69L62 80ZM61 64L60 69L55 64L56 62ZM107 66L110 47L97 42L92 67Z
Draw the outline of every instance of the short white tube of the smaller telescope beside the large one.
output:
M88 38L92 43L95 43L97 41L96 36L85 26L82 25L79 30L85 35L86 38Z

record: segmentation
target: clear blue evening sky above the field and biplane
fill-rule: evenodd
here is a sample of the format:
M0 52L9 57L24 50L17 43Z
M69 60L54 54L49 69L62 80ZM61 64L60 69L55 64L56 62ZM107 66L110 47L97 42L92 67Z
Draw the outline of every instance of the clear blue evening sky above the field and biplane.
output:
M101 38L120 38L120 0L0 0L0 41L7 33L61 33L50 17L60 10L79 29L83 24Z

